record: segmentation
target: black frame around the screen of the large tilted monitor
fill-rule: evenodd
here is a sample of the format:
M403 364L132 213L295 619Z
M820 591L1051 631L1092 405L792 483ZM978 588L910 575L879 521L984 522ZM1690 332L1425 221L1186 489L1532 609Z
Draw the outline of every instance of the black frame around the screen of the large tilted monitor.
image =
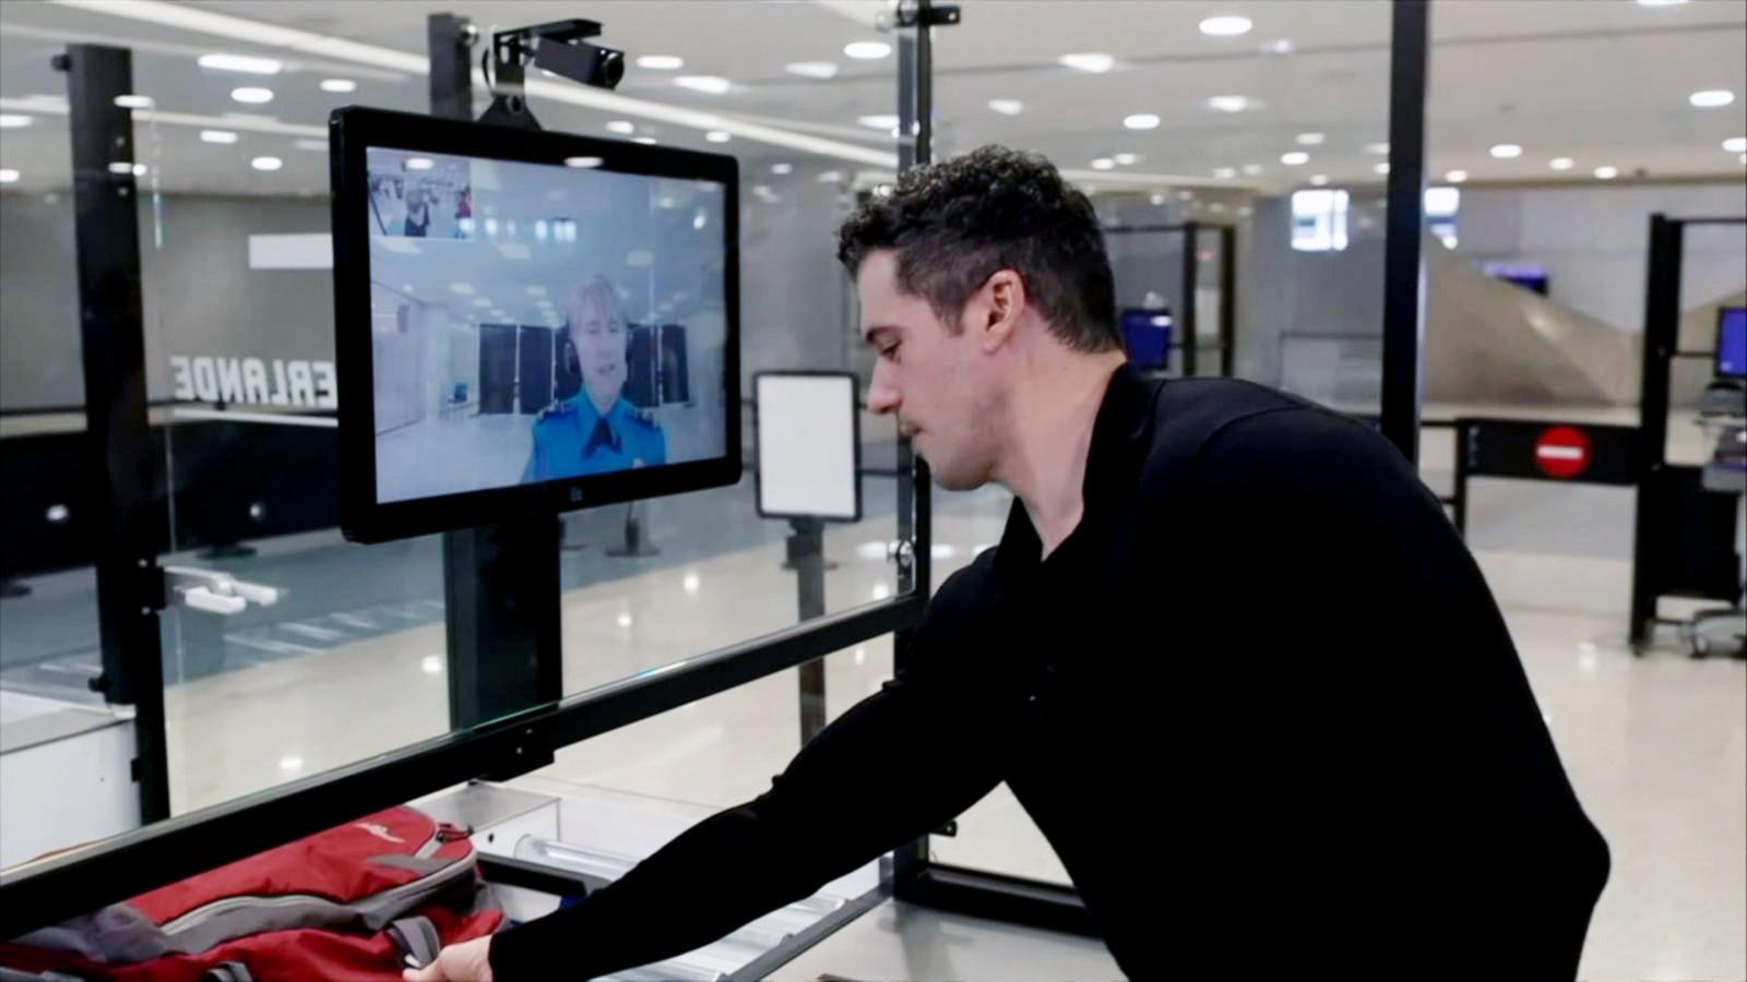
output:
M613 474L459 491L433 498L376 498L376 365L370 342L370 229L365 149L416 150L475 159L564 166L568 157L601 157L597 169L723 189L722 234L727 337L723 339L725 446L722 456ZM365 107L328 119L334 234L334 353L339 384L341 531L351 542L388 542L472 526L540 519L577 508L681 494L737 484L741 468L741 257L739 163L722 154L648 147L440 119ZM356 381L362 377L363 383Z

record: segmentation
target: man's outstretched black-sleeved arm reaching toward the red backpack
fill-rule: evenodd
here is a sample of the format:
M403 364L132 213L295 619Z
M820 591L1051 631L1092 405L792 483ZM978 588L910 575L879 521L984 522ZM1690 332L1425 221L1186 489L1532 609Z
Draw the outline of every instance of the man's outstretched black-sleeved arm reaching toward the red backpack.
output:
M998 685L975 681L949 669L887 683L758 799L582 903L493 937L493 980L587 979L683 954L950 821L1001 781L1017 713Z

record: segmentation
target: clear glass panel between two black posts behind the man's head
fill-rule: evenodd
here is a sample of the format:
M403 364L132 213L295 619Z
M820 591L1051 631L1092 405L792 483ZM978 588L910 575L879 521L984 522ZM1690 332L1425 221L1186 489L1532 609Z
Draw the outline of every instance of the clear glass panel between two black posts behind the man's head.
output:
M1190 374L1183 346L1193 344L1191 374L1230 365L1373 416L1389 5L1240 12L1202 24L1211 10L1174 2L966 3L963 24L936 31L936 156L984 143L1036 150L1090 194L1120 311L1172 330L1165 377ZM1230 360L1219 351L1226 316ZM1146 360L1127 341L1130 360ZM1012 505L999 488L935 494L935 549L949 552L936 552L936 584L999 538ZM931 851L942 863L1066 882L1006 788Z

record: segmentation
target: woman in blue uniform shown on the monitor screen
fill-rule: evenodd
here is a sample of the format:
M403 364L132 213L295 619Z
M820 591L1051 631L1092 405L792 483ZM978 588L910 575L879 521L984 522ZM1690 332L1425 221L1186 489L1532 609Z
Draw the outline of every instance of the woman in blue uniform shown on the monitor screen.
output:
M582 391L535 419L522 482L667 463L660 425L620 395L631 334L613 285L604 276L583 280L570 295L568 315Z

